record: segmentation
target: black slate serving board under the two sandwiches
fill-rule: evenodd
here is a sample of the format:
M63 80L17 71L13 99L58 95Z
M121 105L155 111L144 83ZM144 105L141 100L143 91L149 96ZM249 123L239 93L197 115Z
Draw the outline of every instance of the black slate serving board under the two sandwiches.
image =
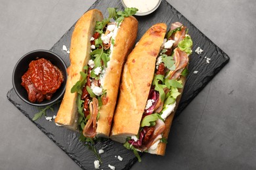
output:
M119 0L104 0L96 1L90 9L99 9L102 11L104 16L108 16L108 7L119 7L121 6L121 1ZM211 42L203 33L201 33L192 23L190 23L181 13L176 9L171 7L167 1L163 0L160 7L148 16L137 16L139 20L139 31L137 41L146 32L146 30L153 24L164 22L170 25L173 22L179 21L186 25L189 30L189 34L194 42L193 51L196 50L198 46L203 49L202 56L193 52L190 56L189 71L186 86L184 87L184 92L182 95L181 103L177 114L181 111L196 97L196 95L205 87L205 85L215 76L219 71L228 63L228 56L217 47L213 42ZM66 45L70 47L70 39L72 31L74 30L74 25L62 36L62 38L54 44L51 51L55 52L61 56L67 65L70 65L69 56L66 52L62 50L62 46ZM210 63L206 62L205 56L211 58ZM198 74L193 74L193 71L198 71ZM31 121L33 114L38 112L37 107L32 107L24 103L13 89L7 93L8 99L17 107L25 116L27 116ZM54 107L54 113L48 112L47 116L56 115L59 106ZM33 121L32 121L33 122ZM82 143L79 142L79 134L70 131L64 127L55 126L54 122L49 122L45 118L41 118L36 122L33 122L35 126L39 127L45 135L47 135L55 144L57 144L72 160L75 161L82 169L94 169L93 161L96 160L95 155ZM126 150L122 144L116 143L114 141L106 140L101 141L96 144L97 150L102 148L105 152L101 154L103 163L100 165L100 169L109 169L108 164L114 165L116 169L129 169L136 161L137 158L129 150ZM119 161L116 156L121 156L123 161Z

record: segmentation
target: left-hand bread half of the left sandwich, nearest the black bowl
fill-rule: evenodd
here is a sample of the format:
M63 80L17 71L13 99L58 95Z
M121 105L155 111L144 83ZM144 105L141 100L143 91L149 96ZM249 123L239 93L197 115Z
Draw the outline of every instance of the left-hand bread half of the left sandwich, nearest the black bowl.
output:
M90 39L95 29L96 21L103 19L100 10L89 10L75 24L70 44L70 67L68 67L68 80L66 91L60 109L55 118L55 123L70 129L77 129L77 93L71 93L74 84L81 80L80 71L84 71L90 59Z

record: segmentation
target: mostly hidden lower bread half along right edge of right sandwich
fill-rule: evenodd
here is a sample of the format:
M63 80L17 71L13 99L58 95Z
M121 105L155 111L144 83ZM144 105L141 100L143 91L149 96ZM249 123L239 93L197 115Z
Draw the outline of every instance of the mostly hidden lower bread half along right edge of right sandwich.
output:
M180 76L180 80L182 81L182 85L184 87L185 86L185 82L186 82L186 77L185 76ZM163 138L165 138L165 139L168 139L168 135L169 135L169 132L170 132L170 129L171 129L171 124L173 122L173 118L174 118L175 112L176 112L176 110L177 110L177 108L179 106L179 102L181 101L181 95L182 95L183 89L184 88L179 88L179 92L181 94L176 99L175 109L165 119L165 130L163 131ZM150 153L150 154L158 154L158 155L164 156L165 155L166 144L167 143L159 143L158 147L155 150L148 150L148 153Z

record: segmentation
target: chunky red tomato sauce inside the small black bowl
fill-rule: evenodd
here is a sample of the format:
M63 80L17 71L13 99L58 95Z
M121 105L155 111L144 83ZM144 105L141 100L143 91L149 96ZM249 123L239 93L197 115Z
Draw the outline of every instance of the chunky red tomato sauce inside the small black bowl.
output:
M60 69L41 58L30 62L28 71L22 76L21 85L26 88L30 102L35 103L50 100L63 81Z

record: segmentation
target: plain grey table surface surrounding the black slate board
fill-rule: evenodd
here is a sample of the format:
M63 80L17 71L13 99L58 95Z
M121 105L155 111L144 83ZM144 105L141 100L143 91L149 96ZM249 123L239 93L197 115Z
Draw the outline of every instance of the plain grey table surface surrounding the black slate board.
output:
M80 169L6 94L16 61L51 48L94 2L0 1L0 169ZM256 169L256 1L168 2L230 61L175 119L166 156L132 169Z

